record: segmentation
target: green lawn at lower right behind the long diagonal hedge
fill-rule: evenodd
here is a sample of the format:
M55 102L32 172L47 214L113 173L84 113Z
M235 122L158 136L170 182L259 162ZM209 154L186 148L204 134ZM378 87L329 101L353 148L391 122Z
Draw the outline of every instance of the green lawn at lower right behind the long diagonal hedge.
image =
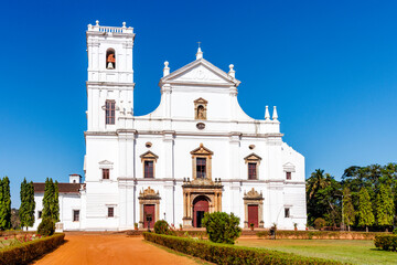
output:
M353 264L397 264L397 253L378 251L374 241L239 239L237 245L335 259Z

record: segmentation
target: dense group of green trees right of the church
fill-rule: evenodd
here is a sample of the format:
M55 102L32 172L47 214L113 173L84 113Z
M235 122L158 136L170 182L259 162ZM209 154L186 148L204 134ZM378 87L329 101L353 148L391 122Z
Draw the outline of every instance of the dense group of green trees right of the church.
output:
M328 225L343 221L348 227L382 230L396 225L397 163L352 166L344 170L341 181L316 169L307 179L307 200L309 225L318 218Z

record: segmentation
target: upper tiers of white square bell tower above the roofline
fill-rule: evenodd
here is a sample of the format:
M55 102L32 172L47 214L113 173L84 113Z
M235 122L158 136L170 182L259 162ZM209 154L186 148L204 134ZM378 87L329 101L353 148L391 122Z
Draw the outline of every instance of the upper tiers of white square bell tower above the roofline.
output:
M133 28L88 24L87 131L114 131L133 115Z

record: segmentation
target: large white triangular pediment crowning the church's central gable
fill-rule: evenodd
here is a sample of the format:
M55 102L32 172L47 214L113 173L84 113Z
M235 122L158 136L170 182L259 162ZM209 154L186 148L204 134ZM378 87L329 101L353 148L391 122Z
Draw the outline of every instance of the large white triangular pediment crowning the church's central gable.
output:
M160 85L167 83L238 86L240 82L229 76L208 61L200 59L160 80Z

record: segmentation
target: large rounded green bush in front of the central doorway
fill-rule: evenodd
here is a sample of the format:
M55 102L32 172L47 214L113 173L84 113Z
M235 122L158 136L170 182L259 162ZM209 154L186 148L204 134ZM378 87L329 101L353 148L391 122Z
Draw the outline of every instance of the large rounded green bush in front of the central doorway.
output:
M203 226L206 229L210 240L215 243L234 244L242 233L238 224L239 218L233 213L205 213L203 219Z

